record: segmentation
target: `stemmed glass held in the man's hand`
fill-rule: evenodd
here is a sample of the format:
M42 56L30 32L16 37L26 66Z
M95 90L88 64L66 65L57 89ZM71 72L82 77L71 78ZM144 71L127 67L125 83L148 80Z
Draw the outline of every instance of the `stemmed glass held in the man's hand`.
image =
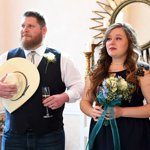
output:
M50 96L50 89L47 86L42 87L42 100ZM46 107L46 115L43 118L51 118L53 115L49 114L48 107Z

